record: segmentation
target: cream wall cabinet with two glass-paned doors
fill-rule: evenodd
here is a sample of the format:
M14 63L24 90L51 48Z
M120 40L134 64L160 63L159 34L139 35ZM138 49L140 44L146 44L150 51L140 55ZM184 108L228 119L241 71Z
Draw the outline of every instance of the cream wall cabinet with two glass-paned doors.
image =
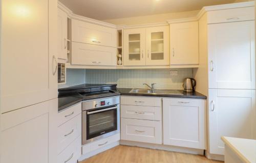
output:
M125 29L124 65L169 65L168 26Z

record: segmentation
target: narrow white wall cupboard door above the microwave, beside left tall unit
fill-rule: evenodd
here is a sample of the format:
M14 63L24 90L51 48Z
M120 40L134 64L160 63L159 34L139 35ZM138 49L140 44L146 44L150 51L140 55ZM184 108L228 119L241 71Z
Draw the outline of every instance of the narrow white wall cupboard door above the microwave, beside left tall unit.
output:
M68 59L68 14L58 8L58 59Z

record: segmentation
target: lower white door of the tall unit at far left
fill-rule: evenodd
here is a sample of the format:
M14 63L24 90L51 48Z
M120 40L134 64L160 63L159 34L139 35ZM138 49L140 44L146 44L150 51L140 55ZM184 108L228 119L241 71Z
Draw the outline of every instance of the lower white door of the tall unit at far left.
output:
M58 100L1 115L1 157L8 163L56 163Z

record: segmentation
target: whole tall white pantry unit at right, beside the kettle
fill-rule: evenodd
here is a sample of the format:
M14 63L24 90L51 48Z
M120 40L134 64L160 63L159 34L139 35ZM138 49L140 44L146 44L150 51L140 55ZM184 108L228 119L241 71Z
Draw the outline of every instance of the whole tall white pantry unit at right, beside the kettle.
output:
M205 8L199 20L197 91L208 97L209 157L221 136L256 138L254 2Z

